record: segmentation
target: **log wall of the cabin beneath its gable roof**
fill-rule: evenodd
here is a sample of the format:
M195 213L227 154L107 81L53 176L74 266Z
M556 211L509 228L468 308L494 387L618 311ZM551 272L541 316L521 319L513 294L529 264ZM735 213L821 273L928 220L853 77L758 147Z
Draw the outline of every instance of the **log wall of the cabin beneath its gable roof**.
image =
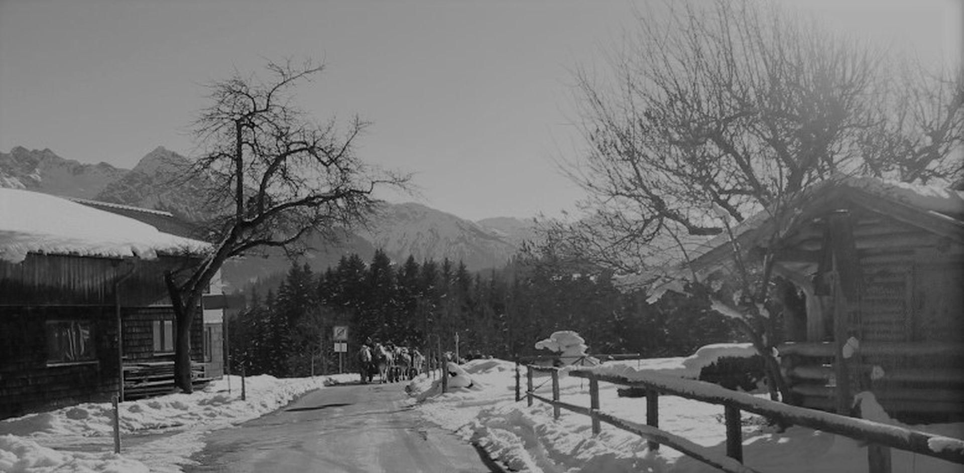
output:
M964 418L964 248L948 237L869 211L851 211L859 266L857 310L845 321L846 338L859 348L847 358L851 394L870 390L892 415L914 420ZM825 222L816 219L794 230L788 254L826 250ZM834 340L826 327L834 311L821 300L832 294L826 259L804 288L808 336L796 348L781 349L795 404L833 409L841 373L835 372ZM820 287L825 283L824 287ZM820 305L820 306L817 306ZM809 347L802 350L800 347ZM815 347L820 347L817 350ZM940 348L934 352L927 348ZM784 348L789 351L784 352Z

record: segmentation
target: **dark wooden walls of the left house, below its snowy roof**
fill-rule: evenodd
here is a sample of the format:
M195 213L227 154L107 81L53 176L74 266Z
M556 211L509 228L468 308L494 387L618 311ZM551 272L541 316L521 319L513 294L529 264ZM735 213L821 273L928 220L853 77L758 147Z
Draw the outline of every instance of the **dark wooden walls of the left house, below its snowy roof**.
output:
M190 262L29 254L0 261L0 418L87 401L118 391L117 306L124 319L124 362L173 360L154 356L154 320L174 320L164 271ZM116 281L120 297L116 297ZM166 304L165 304L166 302ZM160 305L159 305L160 304ZM48 364L46 322L89 321L95 359ZM203 318L196 312L192 359L202 358Z

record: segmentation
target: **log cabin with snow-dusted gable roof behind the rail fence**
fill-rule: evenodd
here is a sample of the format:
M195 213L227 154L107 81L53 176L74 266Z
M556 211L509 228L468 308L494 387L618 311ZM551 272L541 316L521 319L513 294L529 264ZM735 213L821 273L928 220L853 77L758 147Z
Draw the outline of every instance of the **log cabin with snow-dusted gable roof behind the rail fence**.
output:
M847 412L870 391L898 418L964 415L964 192L834 178L738 225L736 242L768 247L797 291L778 347L793 404ZM716 239L692 266L728 261Z

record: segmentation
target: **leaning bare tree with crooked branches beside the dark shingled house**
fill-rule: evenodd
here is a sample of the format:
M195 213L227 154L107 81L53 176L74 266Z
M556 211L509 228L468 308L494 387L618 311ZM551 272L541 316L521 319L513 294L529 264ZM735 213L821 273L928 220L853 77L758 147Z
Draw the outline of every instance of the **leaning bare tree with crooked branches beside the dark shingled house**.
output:
M267 65L269 79L235 75L210 84L211 104L195 122L200 157L189 175L211 184L207 201L222 213L207 224L212 249L199 264L165 275L174 303L175 384L191 392L192 315L211 277L232 256L280 248L306 250L306 238L331 241L365 223L376 189L407 189L409 176L365 165L356 141L368 122L316 123L293 103L292 89L323 70L311 62Z

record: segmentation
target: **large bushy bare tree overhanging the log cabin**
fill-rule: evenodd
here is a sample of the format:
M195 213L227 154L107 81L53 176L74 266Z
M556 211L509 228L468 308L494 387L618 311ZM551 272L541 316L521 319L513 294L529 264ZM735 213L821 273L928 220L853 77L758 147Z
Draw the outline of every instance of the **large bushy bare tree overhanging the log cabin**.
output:
M549 233L580 257L647 274L689 261L712 235L731 240L731 277L713 286L714 307L753 341L777 399L785 384L768 337L773 258L738 248L734 227L761 212L781 221L787 202L839 173L961 172L960 77L914 82L901 98L886 87L881 58L751 0L666 2L639 14L635 36L610 58L613 80L576 71L587 148L561 166L588 191L587 216ZM901 118L901 104L922 112ZM778 237L779 228L770 243Z

